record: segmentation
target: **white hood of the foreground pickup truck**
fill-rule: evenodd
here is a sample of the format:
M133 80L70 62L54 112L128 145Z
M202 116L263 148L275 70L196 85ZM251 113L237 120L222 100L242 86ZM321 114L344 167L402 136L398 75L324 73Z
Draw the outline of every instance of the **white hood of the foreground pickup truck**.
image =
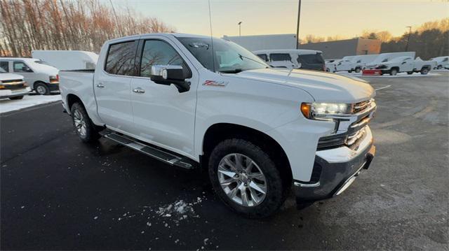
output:
M375 96L375 90L365 80L335 73L306 70L257 69L242 71L236 76L296 87L308 92L315 101L356 103Z

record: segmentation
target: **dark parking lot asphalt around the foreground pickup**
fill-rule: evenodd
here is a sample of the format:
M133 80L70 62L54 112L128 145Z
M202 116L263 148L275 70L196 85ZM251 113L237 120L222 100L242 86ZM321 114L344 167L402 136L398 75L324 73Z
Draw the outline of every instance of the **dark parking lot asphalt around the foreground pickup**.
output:
M197 171L105 139L60 103L0 115L2 250L448 249L449 74L365 78L377 156L342 195L235 215Z

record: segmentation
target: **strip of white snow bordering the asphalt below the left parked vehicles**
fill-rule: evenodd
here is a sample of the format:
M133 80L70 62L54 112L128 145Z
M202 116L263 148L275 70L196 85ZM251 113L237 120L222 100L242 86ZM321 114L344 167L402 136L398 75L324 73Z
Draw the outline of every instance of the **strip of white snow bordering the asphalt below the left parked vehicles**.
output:
M42 103L51 103L60 101L61 95L25 95L23 99L11 100L0 99L0 113L10 112L11 110L21 110L23 108L37 106Z

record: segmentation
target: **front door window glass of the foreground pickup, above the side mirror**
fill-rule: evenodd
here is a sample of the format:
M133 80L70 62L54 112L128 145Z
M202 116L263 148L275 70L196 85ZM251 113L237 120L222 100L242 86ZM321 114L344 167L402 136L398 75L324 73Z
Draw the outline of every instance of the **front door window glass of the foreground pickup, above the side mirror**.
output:
M182 58L171 45L160 40L147 40L142 52L140 76L149 78L154 65L183 66L183 64Z

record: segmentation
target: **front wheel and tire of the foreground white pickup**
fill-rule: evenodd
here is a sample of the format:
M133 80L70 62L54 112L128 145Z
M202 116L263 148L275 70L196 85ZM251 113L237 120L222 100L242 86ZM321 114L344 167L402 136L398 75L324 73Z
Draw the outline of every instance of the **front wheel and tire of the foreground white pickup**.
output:
M239 166L236 166L237 159L242 163ZM249 218L273 215L286 200L291 185L283 182L281 172L267 152L241 138L227 139L215 146L208 160L208 173L220 199L236 213ZM248 200L243 199L246 197L243 192L249 194Z

